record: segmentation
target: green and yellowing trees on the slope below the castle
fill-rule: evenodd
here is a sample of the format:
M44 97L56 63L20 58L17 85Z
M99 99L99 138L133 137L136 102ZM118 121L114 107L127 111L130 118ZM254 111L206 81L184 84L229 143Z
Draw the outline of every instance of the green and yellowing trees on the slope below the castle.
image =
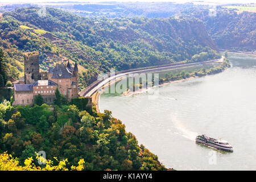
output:
M84 159L85 170L166 170L108 110L89 114L75 105L13 107L3 102L0 143L0 153L7 151L19 164L43 150L47 159L68 159L67 167Z

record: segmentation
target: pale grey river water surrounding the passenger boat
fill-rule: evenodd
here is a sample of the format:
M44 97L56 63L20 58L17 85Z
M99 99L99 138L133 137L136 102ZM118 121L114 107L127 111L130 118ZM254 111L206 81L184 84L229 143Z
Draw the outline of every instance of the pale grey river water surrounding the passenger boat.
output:
M232 67L217 75L159 87L131 96L101 94L139 144L177 170L256 170L256 56L229 53ZM234 152L195 143L206 134L227 140Z

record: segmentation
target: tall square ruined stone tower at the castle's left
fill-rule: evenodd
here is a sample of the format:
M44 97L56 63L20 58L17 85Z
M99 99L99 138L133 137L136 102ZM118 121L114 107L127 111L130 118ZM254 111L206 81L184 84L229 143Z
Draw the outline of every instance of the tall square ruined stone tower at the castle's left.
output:
M25 84L32 84L40 78L39 73L39 52L24 53L24 81Z

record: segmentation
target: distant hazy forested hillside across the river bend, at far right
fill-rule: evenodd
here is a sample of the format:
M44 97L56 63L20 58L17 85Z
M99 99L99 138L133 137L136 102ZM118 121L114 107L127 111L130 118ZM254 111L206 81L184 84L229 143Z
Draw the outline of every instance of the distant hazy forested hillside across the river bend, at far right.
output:
M256 13L218 7L216 16L209 16L208 9L187 9L189 17L201 19L212 39L220 49L233 51L256 50Z

